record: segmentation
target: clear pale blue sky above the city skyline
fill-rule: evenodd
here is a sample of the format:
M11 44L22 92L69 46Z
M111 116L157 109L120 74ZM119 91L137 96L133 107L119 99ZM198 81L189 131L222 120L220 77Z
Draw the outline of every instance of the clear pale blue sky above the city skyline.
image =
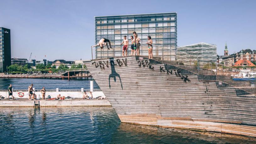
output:
M131 3L132 2L132 3ZM94 16L177 12L178 46L206 42L223 55L255 48L256 1L0 0L0 27L11 29L12 57L90 59Z

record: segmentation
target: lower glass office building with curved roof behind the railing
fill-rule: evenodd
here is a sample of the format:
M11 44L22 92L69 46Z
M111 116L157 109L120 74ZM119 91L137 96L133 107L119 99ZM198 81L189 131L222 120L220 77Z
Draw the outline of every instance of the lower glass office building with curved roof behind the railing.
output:
M191 54L193 56L197 56L200 60L213 61L213 62L216 62L217 60L217 46L214 44L198 43L198 44L185 45L185 46L177 47L177 51L186 53L186 54ZM182 56L183 57L189 56L186 54Z

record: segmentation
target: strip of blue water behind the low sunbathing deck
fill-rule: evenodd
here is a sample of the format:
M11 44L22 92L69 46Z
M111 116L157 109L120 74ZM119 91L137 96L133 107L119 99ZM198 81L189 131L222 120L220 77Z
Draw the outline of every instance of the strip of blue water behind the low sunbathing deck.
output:
M0 90L7 90L12 84L14 90L26 90L29 85L33 84L34 88L42 89L90 89L90 80L55 80L55 79L0 79ZM99 89L99 86L94 81L94 89Z

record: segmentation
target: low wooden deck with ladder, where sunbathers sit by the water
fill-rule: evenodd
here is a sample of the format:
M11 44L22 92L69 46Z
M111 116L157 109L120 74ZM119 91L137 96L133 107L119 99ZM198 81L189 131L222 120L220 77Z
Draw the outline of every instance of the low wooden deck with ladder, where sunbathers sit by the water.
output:
M36 100L36 104L38 100ZM0 100L0 107L33 107L34 101L22 98L18 100ZM83 100L76 98L72 100L40 100L40 107L44 106L111 106L107 99L103 100Z

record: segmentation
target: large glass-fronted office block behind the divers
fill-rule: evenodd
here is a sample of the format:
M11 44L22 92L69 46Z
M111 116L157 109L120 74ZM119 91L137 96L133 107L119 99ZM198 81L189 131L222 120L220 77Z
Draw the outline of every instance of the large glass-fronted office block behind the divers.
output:
M106 47L95 49L95 58L107 58L121 56L122 46L120 46L126 35L129 40L128 52L131 52L130 36L136 31L138 37L147 42L147 36L151 36L153 43L164 44L166 48L177 46L177 13L153 13L134 14L118 16L95 17L95 44L102 38L109 39L113 49ZM147 54L147 45L141 46L142 55ZM128 53L128 55L130 55ZM155 53L153 46L153 53Z

